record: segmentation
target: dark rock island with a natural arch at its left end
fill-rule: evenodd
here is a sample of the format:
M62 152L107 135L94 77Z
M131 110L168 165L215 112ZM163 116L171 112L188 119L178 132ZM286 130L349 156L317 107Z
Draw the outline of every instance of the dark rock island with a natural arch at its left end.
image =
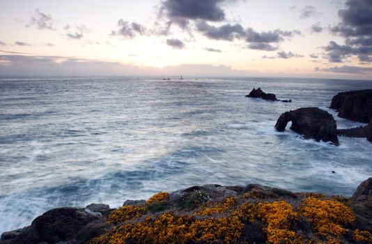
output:
M318 107L304 107L285 112L279 117L275 128L284 131L289 121L292 121L290 129L304 135L305 139L339 145L336 121L331 114Z

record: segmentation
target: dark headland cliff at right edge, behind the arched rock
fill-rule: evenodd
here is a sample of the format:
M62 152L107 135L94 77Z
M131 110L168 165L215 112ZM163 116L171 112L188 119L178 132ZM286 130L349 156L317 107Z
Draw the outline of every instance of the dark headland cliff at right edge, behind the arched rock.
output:
M372 90L347 91L332 98L331 109L337 109L341 118L362 123L372 119Z

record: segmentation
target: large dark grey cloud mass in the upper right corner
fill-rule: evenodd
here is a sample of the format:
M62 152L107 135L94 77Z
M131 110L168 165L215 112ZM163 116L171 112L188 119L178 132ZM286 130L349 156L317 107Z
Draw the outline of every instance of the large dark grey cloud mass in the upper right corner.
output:
M341 22L330 31L346 38L346 45L330 42L327 58L330 62L343 62L349 56L357 56L359 61L372 61L372 1L348 0L346 8L339 10Z

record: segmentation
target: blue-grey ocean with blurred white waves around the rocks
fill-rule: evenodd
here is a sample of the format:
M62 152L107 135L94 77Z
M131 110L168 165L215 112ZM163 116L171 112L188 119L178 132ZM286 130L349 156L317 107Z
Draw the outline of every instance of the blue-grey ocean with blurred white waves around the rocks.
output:
M147 199L192 185L258 183L350 196L372 173L372 144L277 132L290 109L329 109L371 81L160 77L0 79L0 233L50 208ZM253 88L291 103L245 98ZM332 173L334 171L335 173Z

